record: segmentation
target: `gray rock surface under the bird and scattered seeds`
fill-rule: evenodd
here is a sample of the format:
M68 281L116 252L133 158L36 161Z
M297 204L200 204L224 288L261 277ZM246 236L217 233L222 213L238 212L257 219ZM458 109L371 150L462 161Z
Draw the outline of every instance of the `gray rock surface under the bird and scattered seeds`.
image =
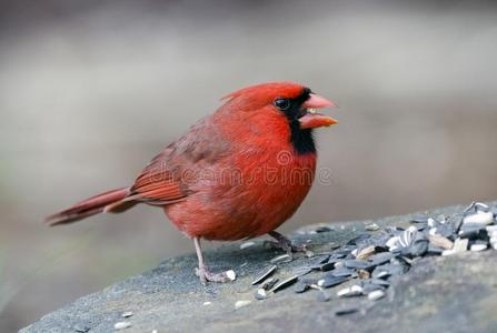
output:
M497 206L497 202L490 203ZM463 206L428 212L455 214ZM327 224L334 231L309 233L316 225L296 232L296 242L308 242L315 252L330 242L344 244L372 222L380 228L405 226L409 218ZM262 240L240 250L240 243L207 252L212 270L235 269L238 279L228 284L200 285L192 270L196 256L165 261L159 268L85 296L43 316L21 332L112 332L118 322L129 322L120 332L497 332L497 252L465 252L423 258L377 301L337 299L318 302L317 292L296 294L291 287L264 301L254 297L250 285L267 262L280 254L266 250ZM280 264L276 275L289 276L305 261L297 255ZM339 289L339 287L338 287ZM336 294L337 289L329 290ZM237 301L251 303L236 309ZM210 303L206 303L210 302ZM337 316L338 309L361 311ZM123 319L125 312L133 315Z

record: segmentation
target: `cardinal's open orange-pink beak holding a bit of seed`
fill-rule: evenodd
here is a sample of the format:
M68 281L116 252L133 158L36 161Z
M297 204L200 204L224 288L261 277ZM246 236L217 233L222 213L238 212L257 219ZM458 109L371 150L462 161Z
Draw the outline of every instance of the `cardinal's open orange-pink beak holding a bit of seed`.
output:
M302 104L302 117L299 118L301 129L315 129L320 127L329 127L338 121L331 117L317 113L317 109L336 108L336 104L319 94L311 93L307 101Z

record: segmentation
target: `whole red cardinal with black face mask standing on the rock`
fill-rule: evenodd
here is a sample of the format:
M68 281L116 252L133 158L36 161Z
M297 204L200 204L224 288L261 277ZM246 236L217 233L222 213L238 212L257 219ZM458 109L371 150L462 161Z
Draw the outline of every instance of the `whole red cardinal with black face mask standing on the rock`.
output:
M47 222L74 222L138 203L160 206L193 239L202 283L236 275L208 270L200 239L235 241L267 233L287 252L298 250L275 230L309 192L316 170L312 129L337 122L316 109L334 103L291 82L252 85L223 100L157 155L131 186L87 199Z

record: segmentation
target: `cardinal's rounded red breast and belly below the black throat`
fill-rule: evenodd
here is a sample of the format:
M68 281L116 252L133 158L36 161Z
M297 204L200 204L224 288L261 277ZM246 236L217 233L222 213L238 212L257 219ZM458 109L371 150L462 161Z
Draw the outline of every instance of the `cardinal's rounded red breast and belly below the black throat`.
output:
M316 154L288 148L246 147L202 170L192 194L166 206L190 236L239 240L278 228L298 209L312 184Z

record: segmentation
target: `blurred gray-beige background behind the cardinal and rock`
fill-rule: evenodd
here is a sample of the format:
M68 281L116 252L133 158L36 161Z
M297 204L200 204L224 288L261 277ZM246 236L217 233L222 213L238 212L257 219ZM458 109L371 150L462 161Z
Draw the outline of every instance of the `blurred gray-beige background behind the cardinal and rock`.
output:
M0 1L0 331L192 252L148 206L41 221L248 84L340 105L317 135L332 182L284 232L497 199L496 59L491 2Z

